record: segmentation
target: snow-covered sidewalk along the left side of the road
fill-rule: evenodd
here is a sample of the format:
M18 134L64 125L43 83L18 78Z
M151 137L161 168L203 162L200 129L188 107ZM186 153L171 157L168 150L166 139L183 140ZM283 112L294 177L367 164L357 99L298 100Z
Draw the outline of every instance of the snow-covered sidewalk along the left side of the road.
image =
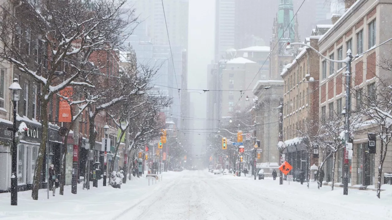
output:
M71 186L65 186L64 195L56 196L49 191L47 199L46 189L40 189L37 201L31 198L31 191L18 192L18 206L10 205L10 193L0 194L0 219L6 220L46 220L46 219L83 219L83 220L110 220L113 216L128 208L132 203L137 203L143 198L148 198L154 192L170 184L178 177L179 173L163 173L163 180L148 186L145 177L127 180L121 189L102 185L98 182L98 188L92 187L83 190L82 184L78 184L78 193L71 193Z

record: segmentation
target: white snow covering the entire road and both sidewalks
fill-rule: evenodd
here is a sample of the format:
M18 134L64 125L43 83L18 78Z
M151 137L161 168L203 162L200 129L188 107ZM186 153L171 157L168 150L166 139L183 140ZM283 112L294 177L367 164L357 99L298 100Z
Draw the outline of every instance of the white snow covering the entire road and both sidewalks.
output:
M388 188L388 187L387 187ZM310 189L298 182L266 178L213 175L207 171L163 173L163 180L148 186L144 178L123 184L121 189L102 187L78 194L50 197L40 191L38 201L31 191L18 194L18 206L9 205L9 194L0 194L0 218L83 220L237 220L237 219L392 219L392 190L381 192L329 186Z

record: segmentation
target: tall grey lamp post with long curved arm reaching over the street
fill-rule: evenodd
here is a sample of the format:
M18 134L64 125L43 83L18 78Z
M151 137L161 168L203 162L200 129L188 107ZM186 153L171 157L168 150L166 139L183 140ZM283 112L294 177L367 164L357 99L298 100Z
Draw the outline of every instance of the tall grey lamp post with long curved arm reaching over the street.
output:
M352 150L352 149L348 149L348 142L349 142L349 136L350 136L351 61L352 61L352 58L353 58L352 57L352 51L351 51L351 49L347 50L347 56L346 56L346 58L344 60L331 60L331 59L327 58L326 56L324 56L323 54L321 54L318 50L314 49L313 47L311 47L310 45L307 45L305 43L290 43L290 42L287 42L286 49L290 49L290 44L291 45L307 46L310 49L316 51L317 54L319 56L321 56L322 58L324 58L325 60L336 62L336 63L346 63L346 72L344 72L344 74L346 76L346 85L345 85L345 89L346 89L346 106L345 106L346 121L345 121L345 151L344 151L345 158L344 158L344 168L343 168L343 195L348 195L348 172L349 172L349 169L348 169L348 150ZM358 57L358 56L360 56L360 55L357 55L355 57ZM352 148L352 146L351 146L351 148Z

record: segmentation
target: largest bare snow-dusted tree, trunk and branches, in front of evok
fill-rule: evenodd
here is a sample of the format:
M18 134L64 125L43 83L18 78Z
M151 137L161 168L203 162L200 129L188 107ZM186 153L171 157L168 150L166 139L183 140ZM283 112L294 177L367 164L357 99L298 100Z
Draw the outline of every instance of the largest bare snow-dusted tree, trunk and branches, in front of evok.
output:
M128 36L124 30L136 20L120 18L120 8L126 0L90 1L9 1L1 16L0 40L4 48L0 58L9 61L21 74L38 84L41 110L42 139L48 135L47 104L49 99L68 85L94 87L88 80L93 72L89 65L91 55L96 51L113 50L122 45ZM32 20L24 19L29 14ZM28 29L37 36L45 52L38 65L31 65L20 49L21 29ZM39 56L39 54L34 54ZM98 67L99 69L99 67ZM41 170L46 143L41 142L34 171L32 197L38 199Z

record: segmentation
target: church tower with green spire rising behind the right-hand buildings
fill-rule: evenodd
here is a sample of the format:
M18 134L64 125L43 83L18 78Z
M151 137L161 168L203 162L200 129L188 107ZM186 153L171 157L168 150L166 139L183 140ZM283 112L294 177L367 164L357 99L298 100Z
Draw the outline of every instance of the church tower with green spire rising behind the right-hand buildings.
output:
M283 67L293 60L293 52L286 50L287 42L299 42L298 20L294 18L292 0L278 0L279 8L270 38L270 77L272 80L280 80ZM275 46L276 45L276 46ZM275 47L275 48L274 48Z

